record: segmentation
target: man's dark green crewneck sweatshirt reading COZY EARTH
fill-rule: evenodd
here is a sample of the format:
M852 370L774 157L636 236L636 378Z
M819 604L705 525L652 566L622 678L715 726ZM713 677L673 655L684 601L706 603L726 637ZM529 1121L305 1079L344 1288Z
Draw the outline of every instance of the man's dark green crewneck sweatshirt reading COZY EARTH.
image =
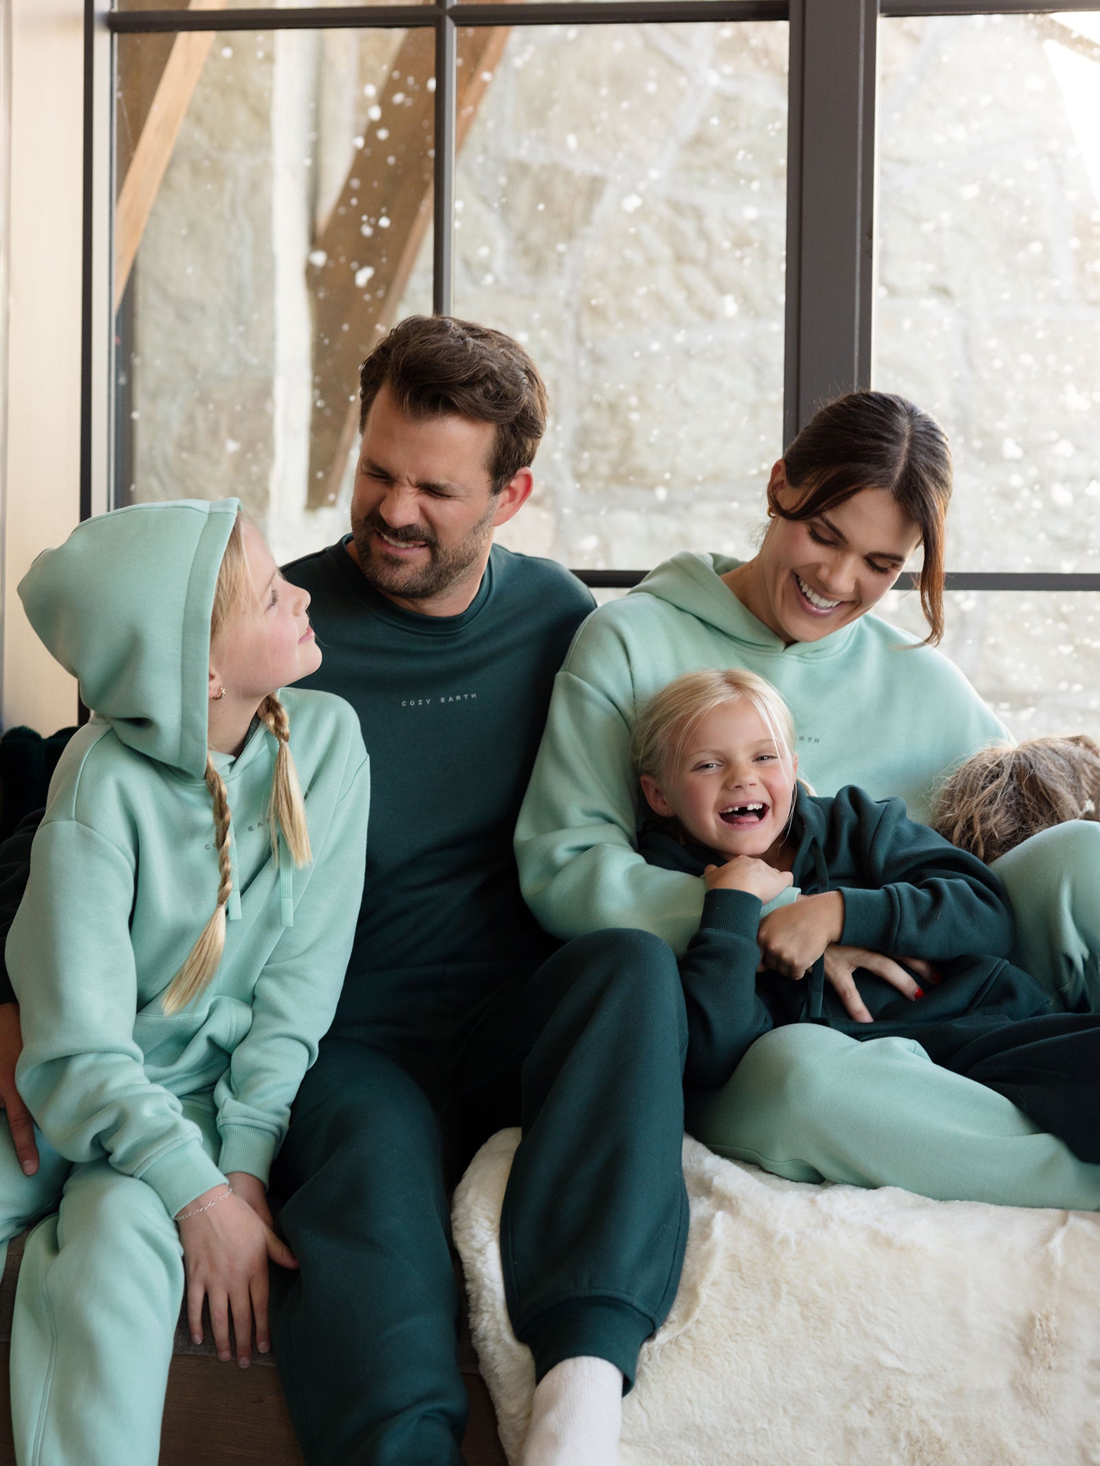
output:
M337 1031L409 1001L446 1019L557 946L519 893L512 831L554 674L593 608L562 566L494 547L461 616L419 616L371 589L345 545L285 566L312 597L324 652L302 686L346 698L371 755L367 880Z

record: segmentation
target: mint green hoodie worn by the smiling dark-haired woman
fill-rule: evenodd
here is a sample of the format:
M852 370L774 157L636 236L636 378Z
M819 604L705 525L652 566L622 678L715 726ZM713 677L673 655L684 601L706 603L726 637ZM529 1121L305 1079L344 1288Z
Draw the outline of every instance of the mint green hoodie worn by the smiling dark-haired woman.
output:
M767 677L791 707L799 774L815 793L901 795L914 819L927 819L947 770L1006 736L953 663L877 616L785 647L719 579L739 563L678 554L573 639L516 827L524 896L557 937L639 927L682 954L698 928L703 881L637 853L631 764L635 714L685 671Z

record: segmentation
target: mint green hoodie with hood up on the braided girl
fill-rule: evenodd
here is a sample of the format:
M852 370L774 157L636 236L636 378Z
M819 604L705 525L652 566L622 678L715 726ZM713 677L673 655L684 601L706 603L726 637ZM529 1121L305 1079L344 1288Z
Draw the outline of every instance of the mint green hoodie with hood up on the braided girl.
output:
M210 616L236 500L119 509L47 550L26 614L95 708L62 756L7 940L21 1004L16 1082L70 1161L110 1157L170 1214L242 1170L267 1182L290 1101L317 1057L362 891L368 762L355 712L280 693L305 792L312 863L273 858L276 739L255 724L229 792L235 896L210 985L161 997L219 888L207 759ZM214 1091L221 1151L180 1095Z

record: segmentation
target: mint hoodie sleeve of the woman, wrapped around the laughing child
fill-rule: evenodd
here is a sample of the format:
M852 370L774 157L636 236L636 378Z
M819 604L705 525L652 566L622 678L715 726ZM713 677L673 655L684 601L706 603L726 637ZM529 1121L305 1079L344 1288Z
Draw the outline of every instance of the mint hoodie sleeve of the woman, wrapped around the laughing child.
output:
M705 890L697 875L647 865L635 847L631 689L626 651L597 611L554 682L516 825L519 878L556 937L637 927L679 956L698 929Z

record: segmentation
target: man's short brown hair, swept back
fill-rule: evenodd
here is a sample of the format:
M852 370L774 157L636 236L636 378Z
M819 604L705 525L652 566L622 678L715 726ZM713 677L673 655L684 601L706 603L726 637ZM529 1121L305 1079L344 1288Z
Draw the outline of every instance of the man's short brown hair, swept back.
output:
M359 432L383 387L409 418L496 424L494 494L534 462L546 432L546 387L524 347L453 315L411 315L378 342L359 368Z

